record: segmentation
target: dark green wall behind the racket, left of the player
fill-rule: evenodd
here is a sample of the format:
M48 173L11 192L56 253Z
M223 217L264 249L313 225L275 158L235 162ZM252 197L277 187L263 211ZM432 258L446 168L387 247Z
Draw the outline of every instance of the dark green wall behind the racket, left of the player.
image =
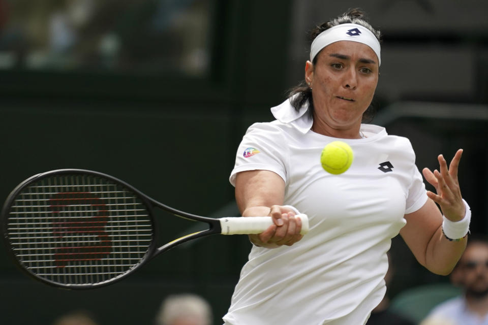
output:
M0 198L34 174L81 168L176 209L236 213L228 177L238 142L251 122L271 119L269 107L287 88L290 3L217 1L212 69L203 79L0 71ZM168 236L162 244L193 225L162 213L158 221ZM220 324L249 249L246 236L198 240L89 291L37 283L0 249L0 322L49 324L86 309L101 324L150 324L166 295L191 291L209 300Z

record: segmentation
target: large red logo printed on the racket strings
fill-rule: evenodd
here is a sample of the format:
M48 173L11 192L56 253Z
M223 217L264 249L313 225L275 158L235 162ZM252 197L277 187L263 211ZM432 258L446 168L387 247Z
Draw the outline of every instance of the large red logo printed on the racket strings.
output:
M98 242L86 243L66 240L65 246L58 246L54 252L54 261L57 267L65 267L68 262L72 261L98 261L112 252L112 242L105 232L105 225L108 222L108 207L105 202L90 192L61 192L54 194L49 199L50 209L56 218L52 222L52 233L63 238L65 236L89 235L96 236ZM76 205L90 205L96 210L86 211L86 209L77 210ZM73 216L73 213L79 214L93 212L93 217L84 218ZM90 237L90 241L92 241ZM100 245L107 243L108 245ZM79 245L76 245L79 244ZM70 254L73 258L66 259Z

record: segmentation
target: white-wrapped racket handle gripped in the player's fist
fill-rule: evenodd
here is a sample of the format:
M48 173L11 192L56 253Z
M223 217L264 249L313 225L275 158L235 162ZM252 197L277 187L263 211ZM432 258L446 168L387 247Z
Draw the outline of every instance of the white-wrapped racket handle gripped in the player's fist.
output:
M301 219L300 234L309 232L309 218L306 214L297 214L295 217ZM273 224L271 217L234 217L219 218L222 228L222 235L249 235L260 234Z

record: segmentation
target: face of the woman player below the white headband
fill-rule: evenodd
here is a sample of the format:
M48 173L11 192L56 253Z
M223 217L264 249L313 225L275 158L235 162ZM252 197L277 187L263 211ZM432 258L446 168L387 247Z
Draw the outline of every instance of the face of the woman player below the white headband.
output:
M307 61L312 87L314 124L348 129L361 124L378 84L378 57L367 45L339 41L323 48L315 66Z

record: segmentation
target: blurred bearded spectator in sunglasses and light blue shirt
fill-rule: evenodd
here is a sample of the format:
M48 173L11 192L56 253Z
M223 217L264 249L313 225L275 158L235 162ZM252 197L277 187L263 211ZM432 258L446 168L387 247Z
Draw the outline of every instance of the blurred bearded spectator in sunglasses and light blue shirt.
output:
M421 325L488 325L488 240L469 238L463 256L451 273L463 295L435 307Z

